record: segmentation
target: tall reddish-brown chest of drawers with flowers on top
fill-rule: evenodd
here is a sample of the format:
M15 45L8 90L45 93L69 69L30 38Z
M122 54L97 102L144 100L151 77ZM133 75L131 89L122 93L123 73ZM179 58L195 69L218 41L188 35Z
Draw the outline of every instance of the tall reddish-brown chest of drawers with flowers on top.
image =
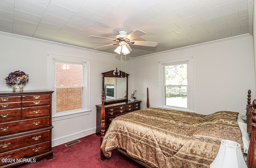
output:
M53 157L53 91L0 92L0 167Z

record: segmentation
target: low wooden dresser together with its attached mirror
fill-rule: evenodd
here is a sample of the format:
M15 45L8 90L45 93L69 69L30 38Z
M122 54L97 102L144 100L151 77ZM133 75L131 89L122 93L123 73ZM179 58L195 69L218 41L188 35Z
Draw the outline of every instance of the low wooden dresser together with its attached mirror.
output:
M117 69L102 73L106 130L114 118L140 109L141 101L128 99L128 76L129 74ZM96 105L96 134L98 135L101 134L101 108L101 104Z

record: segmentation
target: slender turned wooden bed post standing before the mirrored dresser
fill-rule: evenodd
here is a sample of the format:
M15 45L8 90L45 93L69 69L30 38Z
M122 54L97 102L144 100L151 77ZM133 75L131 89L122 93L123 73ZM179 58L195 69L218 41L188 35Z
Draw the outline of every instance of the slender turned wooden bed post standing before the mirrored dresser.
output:
M101 95L101 137L100 137L100 145L102 144L103 138L106 133L106 115L105 115L105 107L104 107L104 91L102 90ZM100 159L105 160L103 152L100 150Z

